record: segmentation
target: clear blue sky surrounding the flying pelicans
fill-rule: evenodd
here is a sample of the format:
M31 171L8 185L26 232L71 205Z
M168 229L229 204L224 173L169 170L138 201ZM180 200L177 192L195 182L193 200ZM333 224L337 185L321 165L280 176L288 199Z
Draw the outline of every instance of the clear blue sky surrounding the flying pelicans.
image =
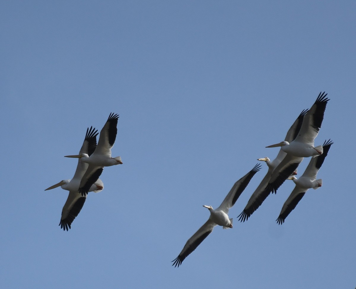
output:
M1 288L355 288L354 1L3 1ZM171 261L320 91L318 177L236 219L262 164L179 268ZM87 127L120 114L104 190L58 227ZM309 160L299 166L302 174Z

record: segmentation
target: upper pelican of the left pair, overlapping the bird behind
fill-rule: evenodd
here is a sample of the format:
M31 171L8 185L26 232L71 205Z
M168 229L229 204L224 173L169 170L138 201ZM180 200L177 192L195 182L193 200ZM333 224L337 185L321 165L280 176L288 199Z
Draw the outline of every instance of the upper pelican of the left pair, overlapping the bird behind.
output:
M118 114L110 113L108 120L100 131L98 145L92 155L81 153L79 155L69 155L66 157L77 157L89 164L82 181L79 185L79 192L85 196L90 187L98 180L104 167L122 164L121 157L111 157L111 148L114 146L117 134Z

